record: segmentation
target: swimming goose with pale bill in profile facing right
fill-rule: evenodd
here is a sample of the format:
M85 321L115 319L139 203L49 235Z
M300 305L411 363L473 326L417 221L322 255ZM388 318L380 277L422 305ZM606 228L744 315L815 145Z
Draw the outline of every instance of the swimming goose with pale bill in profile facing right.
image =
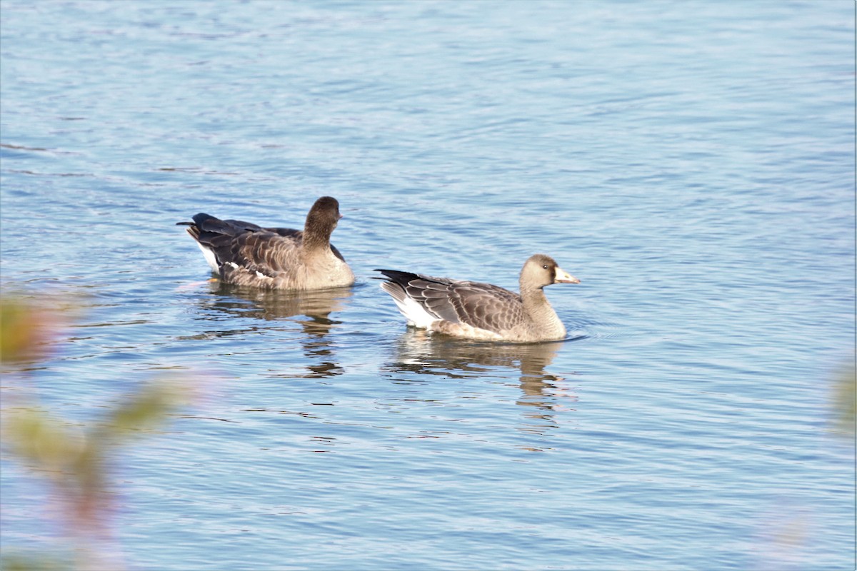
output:
M490 283L430 277L410 271L380 271L381 289L415 325L468 339L537 342L562 339L566 327L545 297L551 283L580 283L542 253L531 256L521 270L521 293ZM384 279L384 278L379 278Z

